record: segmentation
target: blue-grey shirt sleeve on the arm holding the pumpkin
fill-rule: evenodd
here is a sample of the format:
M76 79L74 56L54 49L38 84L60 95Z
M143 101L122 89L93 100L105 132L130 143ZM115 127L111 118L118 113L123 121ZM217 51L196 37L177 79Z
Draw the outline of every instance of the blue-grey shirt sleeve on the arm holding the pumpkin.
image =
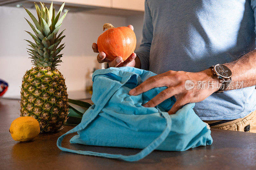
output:
M140 48L135 51L136 55L140 59L141 69L148 70L149 68L149 52L151 47L151 42L153 39L153 24L151 12L148 7L147 0L145 0L145 12L144 12L144 22L142 29L142 41Z

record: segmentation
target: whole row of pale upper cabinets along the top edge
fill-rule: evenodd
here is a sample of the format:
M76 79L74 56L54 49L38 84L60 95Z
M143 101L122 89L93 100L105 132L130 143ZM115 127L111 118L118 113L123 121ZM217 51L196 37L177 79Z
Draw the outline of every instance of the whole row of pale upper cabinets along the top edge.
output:
M34 7L34 2L38 3L42 0L0 0L0 5L17 6L20 4L26 5L28 8ZM90 13L104 13L131 16L143 14L145 0L44 0L47 5L53 3L55 7L66 2L65 8L69 11L89 11ZM29 7L30 6L30 7ZM100 11L101 10L101 11Z

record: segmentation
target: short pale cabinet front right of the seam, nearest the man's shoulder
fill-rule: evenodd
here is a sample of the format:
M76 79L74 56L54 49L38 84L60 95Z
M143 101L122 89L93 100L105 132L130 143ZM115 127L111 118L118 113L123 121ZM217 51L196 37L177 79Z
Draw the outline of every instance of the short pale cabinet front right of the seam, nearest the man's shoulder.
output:
M112 8L144 11L145 0L111 0L111 2Z

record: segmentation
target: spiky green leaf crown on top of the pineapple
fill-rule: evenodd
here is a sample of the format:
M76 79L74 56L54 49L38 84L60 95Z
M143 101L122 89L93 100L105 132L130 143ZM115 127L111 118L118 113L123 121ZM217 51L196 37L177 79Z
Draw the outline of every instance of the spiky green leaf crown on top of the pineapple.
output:
M55 8L52 4L49 9L45 6L44 3L39 2L39 5L40 7L35 3L38 20L23 6L35 25L34 26L25 18L28 22L28 25L35 33L33 34L26 31L35 41L35 43L33 43L26 40L29 43L28 46L30 47L27 48L28 54L30 55L29 58L32 59L31 62L36 67L49 67L55 69L56 66L59 65L58 63L61 62L60 58L62 57L62 54L59 53L65 47L64 44L60 45L61 40L65 37L65 35L61 36L65 30L59 33L58 36L57 34L59 32L61 23L68 11L60 17L60 14L65 5L65 3L63 3L55 17Z

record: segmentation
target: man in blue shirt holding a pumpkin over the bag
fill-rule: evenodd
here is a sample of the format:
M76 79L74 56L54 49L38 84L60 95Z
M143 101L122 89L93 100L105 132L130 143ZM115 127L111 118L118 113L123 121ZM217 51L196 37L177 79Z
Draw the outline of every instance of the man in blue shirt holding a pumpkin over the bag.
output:
M195 113L212 128L256 133L255 7L255 0L145 0L138 57L133 53L123 63L122 57L109 62L101 52L97 60L158 74L129 92L167 86L145 107L174 95L169 114L196 102ZM98 52L96 43L92 48Z

